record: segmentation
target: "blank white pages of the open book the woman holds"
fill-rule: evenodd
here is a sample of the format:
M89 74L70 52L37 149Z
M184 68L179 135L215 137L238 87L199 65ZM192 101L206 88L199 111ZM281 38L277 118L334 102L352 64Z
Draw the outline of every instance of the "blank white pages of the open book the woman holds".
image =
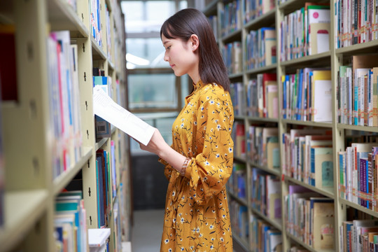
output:
M155 127L124 109L109 97L101 87L93 87L93 113L118 127L145 146L151 140Z

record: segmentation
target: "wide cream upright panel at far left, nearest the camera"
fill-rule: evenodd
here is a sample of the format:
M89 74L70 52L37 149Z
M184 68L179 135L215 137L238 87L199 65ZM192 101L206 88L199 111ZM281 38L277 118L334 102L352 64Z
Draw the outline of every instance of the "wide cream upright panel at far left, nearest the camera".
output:
M15 51L18 101L3 110L6 143L6 190L46 190L52 187L48 111L48 72L44 0L15 1ZM10 105L10 106L7 106ZM22 248L51 251L53 204L48 194L41 216L22 242Z

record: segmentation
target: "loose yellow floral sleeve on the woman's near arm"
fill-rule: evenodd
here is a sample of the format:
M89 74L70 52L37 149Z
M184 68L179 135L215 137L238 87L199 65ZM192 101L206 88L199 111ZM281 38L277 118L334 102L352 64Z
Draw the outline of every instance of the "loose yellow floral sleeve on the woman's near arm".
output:
M194 145L198 154L191 159L185 176L190 179L190 196L198 205L218 195L232 173L232 104L218 96L216 92L202 95L197 108Z

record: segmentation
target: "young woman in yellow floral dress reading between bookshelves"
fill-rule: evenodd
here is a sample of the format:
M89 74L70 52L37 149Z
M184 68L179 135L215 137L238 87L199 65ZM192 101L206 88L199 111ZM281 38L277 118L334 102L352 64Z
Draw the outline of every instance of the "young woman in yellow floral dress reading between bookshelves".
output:
M141 144L160 157L169 179L160 251L232 252L225 183L232 172L234 117L227 70L199 10L174 14L160 37L174 74L193 80L172 127L172 146L158 130L147 146Z

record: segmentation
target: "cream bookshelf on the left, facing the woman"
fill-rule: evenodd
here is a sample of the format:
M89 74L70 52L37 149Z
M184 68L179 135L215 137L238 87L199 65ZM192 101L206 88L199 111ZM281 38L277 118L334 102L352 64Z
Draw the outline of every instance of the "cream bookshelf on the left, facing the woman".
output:
M94 33L97 19L97 28L100 28ZM1 155L5 165L0 167L0 181L5 186L0 185L0 220L3 220L3 224L0 221L0 251L55 251L55 203L62 190L69 188L82 191L86 219L85 225L80 227L99 228L96 153L100 149L114 153L109 187L115 185L115 194L109 190L107 195L109 249L122 251L120 241L130 240L129 139L114 127L110 137L97 139L92 110L95 67L102 69L108 84L111 79L112 98L126 106L126 62L122 57L125 55L124 25L125 17L116 0L1 1L1 39L10 30L15 41L13 57L17 62L14 66L17 82L1 85L15 90L17 96L1 102ZM52 82L64 83L52 73L58 70L50 64L55 54L49 50L51 43L55 48L58 44L58 38L55 41L52 34L62 31L68 34L65 38L69 45L77 46L77 56L69 56L72 64L67 64L72 67L67 73L72 77L64 79L70 83L66 84L69 90L60 92L71 102L64 104L67 100L62 98L60 105L63 109L69 106L71 120L65 117L58 120L53 116L57 111L52 108L59 105L52 102L50 92ZM59 60L64 67L62 58ZM77 78L73 72L77 73ZM64 126L56 121L69 122L69 129L75 124L77 132L67 133L68 138L57 137L54 126ZM64 154L60 152L62 149ZM83 244L89 251L87 240Z

